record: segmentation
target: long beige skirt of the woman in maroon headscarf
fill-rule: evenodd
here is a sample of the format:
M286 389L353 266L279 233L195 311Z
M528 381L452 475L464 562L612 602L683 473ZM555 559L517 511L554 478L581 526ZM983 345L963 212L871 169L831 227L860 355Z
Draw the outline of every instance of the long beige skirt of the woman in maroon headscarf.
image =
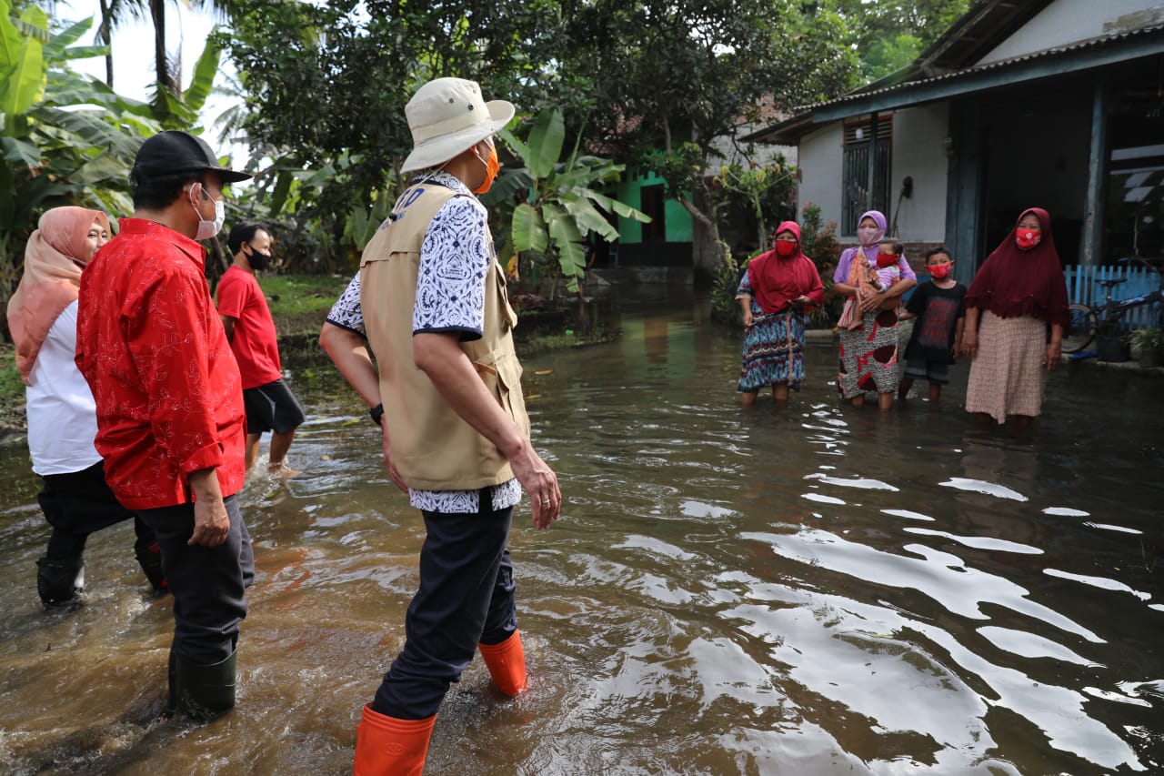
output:
M1000 318L982 311L978 355L970 365L966 411L985 412L999 423L1007 415L1035 417L1043 408L1046 324L1021 316Z

